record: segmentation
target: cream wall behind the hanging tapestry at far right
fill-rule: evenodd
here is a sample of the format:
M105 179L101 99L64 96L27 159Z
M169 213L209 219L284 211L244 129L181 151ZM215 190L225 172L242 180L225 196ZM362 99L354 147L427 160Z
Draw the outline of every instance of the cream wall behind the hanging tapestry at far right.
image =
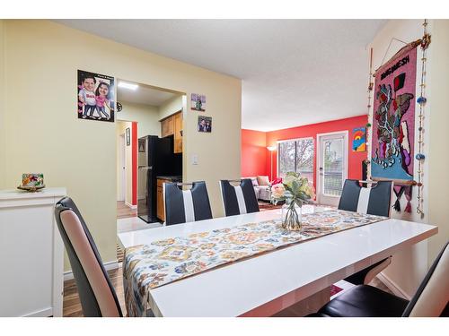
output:
M369 46L374 48L374 69L382 64L383 58L384 62L387 61L401 47L403 47L401 42L392 40L392 38L408 42L420 39L423 35L422 23L423 20L392 20L388 22L383 27L383 30L379 31L375 36L373 43ZM426 117L424 119L425 133L423 146L423 153L427 157L423 166L424 216L418 215L416 211L418 205L418 193L417 188L414 187L411 201L412 212L401 212L398 214L396 211L392 210L392 217L437 225L439 227L439 233L435 238L431 238L428 241L412 246L399 254L395 254L393 256L392 265L383 271L383 276L386 280L391 281L392 285L396 286L396 288L406 297L411 297L414 294L430 265L428 261L433 260L435 251L440 248L442 241L447 240L448 237L448 224L446 220L448 218L448 199L447 188L444 187L444 185L447 186L447 181L443 182L441 177L443 176L443 171L447 170L447 166L445 166L447 158L443 153L445 153L445 147L447 147L447 144L449 143L447 142L447 132L443 128L445 126L444 121L447 121L448 119L447 108L443 99L447 96L447 76L449 75L449 73L447 73L447 41L449 41L449 36L444 25L435 21L430 21L427 26L431 34L434 33L433 30L435 30L435 24L436 27L441 27L441 29L438 29L440 31L440 36L438 36L439 34L433 36L432 43L427 49L428 67L426 90L428 103L426 107ZM436 39L438 40L436 41ZM392 45L387 52L390 43L392 43ZM437 52L436 46L438 46L437 50L439 49ZM421 77L421 50L419 47L417 56L418 93L418 85L420 84ZM444 71L443 69L446 70ZM443 93L444 90L446 90L446 93ZM437 108L435 104L438 104ZM415 129L417 130L417 133L415 134L415 152L418 153L418 104L416 106L416 115ZM436 138L441 140L436 141ZM445 142L442 141L444 139L446 140ZM369 142L371 142L371 140L370 137ZM414 160L414 162L415 179L417 179L418 162L417 160ZM401 209L405 209L405 206L406 199L405 197L402 197Z

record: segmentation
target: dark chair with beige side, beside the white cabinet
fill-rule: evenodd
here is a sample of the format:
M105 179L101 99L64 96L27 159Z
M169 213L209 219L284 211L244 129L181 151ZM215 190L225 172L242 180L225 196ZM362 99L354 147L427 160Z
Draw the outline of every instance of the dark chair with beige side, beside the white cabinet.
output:
M55 217L72 266L84 316L123 316L116 292L75 202L69 197L57 202Z

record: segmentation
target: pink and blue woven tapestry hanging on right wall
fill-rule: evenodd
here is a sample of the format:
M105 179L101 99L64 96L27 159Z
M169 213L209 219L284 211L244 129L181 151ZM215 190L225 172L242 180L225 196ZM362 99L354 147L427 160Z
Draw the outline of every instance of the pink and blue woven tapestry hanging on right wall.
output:
M371 177L413 180L417 48L401 49L375 73Z

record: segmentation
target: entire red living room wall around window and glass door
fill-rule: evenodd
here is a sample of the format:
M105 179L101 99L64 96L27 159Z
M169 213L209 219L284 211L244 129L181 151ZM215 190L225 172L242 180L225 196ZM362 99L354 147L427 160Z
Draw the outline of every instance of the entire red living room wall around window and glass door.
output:
M313 180L316 181L316 135L339 131L348 131L348 178L362 178L362 160L366 159L366 151L352 151L352 130L363 127L367 116L353 116L345 119L332 120L325 123L304 125L272 132L242 130L242 177L268 175L270 173L269 151L267 146L276 146L279 140L313 137L315 141L315 159L313 161ZM265 146L262 144L263 134L266 135ZM262 147L265 153L262 153ZM254 149L258 148L258 151ZM251 150L252 149L252 150ZM265 155L265 160L263 159ZM265 168L261 168L264 165ZM277 151L273 152L273 177L277 172Z

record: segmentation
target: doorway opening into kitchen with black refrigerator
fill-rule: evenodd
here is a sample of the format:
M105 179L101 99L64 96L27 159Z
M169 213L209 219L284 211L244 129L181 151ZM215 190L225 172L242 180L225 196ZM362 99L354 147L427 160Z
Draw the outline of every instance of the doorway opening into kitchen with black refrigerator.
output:
M118 232L160 225L155 216L159 200L157 179L182 179L182 116L185 93L139 82L118 79L117 85L117 179L123 174L122 143L125 142L125 179L118 182ZM125 138L123 139L123 134ZM120 185L125 185L122 190ZM128 207L128 209L127 209ZM159 216L158 216L159 217Z

